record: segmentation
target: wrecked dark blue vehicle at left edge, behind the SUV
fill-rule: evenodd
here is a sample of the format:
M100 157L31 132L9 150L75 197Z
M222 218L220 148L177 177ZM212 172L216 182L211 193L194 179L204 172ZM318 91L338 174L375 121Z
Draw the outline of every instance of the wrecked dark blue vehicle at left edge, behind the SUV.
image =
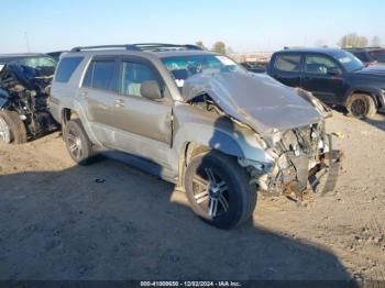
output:
M46 99L56 62L44 54L0 55L0 141L25 143L56 130Z

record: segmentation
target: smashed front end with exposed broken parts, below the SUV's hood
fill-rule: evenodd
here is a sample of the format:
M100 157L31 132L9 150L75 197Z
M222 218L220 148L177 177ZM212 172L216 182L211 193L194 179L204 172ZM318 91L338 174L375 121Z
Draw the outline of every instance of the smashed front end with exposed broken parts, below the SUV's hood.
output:
M332 149L324 121L272 135L266 151L274 164L270 169L251 169L260 190L302 200L309 192L334 189L340 155Z

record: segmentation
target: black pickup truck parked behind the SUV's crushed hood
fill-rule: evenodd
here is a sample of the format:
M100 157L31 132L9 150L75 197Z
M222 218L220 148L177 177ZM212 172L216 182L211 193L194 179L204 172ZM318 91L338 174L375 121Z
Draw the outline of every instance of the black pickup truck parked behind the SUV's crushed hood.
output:
M365 67L343 49L279 51L273 54L267 74L287 86L312 92L327 104L345 107L356 118L385 110L385 68Z

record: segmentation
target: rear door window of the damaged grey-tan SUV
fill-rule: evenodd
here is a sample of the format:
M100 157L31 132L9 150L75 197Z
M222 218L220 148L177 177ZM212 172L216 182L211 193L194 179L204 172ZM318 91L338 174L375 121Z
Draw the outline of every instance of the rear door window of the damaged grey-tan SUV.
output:
M114 90L114 60L94 60L88 67L82 86L95 89Z

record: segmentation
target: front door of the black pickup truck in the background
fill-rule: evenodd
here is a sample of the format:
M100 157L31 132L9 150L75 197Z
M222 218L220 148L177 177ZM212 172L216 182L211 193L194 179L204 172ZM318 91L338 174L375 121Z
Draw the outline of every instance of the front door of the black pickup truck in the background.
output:
M326 103L338 103L338 99L344 95L342 69L327 55L307 54L301 87Z

